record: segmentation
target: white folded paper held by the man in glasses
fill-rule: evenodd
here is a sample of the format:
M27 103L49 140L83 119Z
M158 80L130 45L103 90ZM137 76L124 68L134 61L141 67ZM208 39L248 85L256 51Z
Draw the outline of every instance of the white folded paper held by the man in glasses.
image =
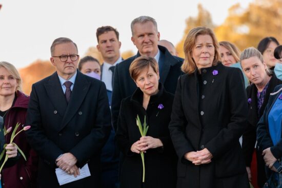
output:
M69 175L65 171L63 171L60 168L56 169L56 176L59 182L59 185L64 185L66 183L70 183L79 179L86 178L88 176L91 176L88 164L85 164L83 168L79 169L80 175L77 177L74 177L73 175Z

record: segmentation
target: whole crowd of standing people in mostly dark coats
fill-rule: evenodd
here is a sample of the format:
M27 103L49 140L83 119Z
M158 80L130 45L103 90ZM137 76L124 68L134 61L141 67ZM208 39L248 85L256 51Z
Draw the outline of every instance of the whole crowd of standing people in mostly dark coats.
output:
M131 32L138 52L123 59L118 31L97 29L104 62L79 59L74 41L56 38L56 71L34 83L30 97L16 68L0 62L0 130L31 126L14 143L0 134L8 157L2 186L282 186L278 41L266 37L241 52L196 27L183 59L160 40L154 18L135 18Z

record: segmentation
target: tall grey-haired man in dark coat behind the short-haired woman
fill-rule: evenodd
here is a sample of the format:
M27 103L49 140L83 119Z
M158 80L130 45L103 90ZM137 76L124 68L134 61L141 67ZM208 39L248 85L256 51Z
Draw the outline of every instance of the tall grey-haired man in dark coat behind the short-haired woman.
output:
M180 67L183 59L173 56L163 46L158 46L159 32L154 18L140 16L131 23L131 40L138 49L135 56L132 56L115 66L113 93L112 93L112 123L117 127L120 102L133 94L136 84L129 75L131 62L140 55L154 57L159 66L159 81L163 83L165 89L174 93L176 90L177 79L183 74Z

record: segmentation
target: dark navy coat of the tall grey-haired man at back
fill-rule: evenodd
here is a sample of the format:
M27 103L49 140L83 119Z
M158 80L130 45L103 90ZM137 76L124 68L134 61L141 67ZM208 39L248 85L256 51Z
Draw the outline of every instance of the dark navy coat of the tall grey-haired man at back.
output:
M165 47L158 46L158 49L161 53L163 53L160 56L160 61L163 59L163 68L159 75L159 81L163 83L168 92L174 93L177 79L179 75L183 74L180 69L183 59L171 55ZM120 101L132 95L137 88L136 84L130 77L129 67L131 62L139 56L140 54L138 52L135 56L132 56L115 66L111 105L112 123L115 130L117 127Z

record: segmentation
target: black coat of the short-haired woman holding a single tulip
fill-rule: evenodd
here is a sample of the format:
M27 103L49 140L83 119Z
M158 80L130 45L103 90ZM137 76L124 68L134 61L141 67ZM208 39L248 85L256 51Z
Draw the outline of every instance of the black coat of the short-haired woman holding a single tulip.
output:
M143 92L138 88L132 95L123 99L118 118L116 142L124 154L121 166L120 187L173 188L176 187L176 153L169 136L168 124L172 109L173 95L166 92L159 83L159 92L151 96L147 110L143 108ZM163 109L158 109L162 104ZM145 183L142 184L143 166L140 154L131 152L131 145L141 135L136 125L136 117L149 126L147 136L159 138L164 147L149 149L145 153Z

